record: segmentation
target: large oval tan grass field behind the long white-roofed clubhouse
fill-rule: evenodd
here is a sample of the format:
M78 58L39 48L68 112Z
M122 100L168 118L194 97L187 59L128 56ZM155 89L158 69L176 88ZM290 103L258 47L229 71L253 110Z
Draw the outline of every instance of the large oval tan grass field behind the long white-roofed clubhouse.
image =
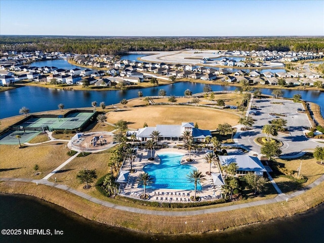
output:
M146 106L126 107L107 114L108 123L124 119L128 121L129 128L142 128L144 123L148 126L157 124L179 125L182 122L198 123L200 129L216 129L218 124L229 123L237 125L239 116L217 109L188 106Z

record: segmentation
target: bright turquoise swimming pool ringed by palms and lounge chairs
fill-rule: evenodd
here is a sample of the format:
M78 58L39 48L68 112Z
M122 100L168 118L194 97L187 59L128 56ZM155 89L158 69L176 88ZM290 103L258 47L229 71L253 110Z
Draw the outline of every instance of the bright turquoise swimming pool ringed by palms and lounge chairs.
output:
M189 182L187 175L196 168L190 165L181 165L180 161L183 155L180 153L161 153L158 154L161 163L144 166L143 171L153 178L153 183L147 188L194 190L194 183ZM199 183L197 190L201 190Z

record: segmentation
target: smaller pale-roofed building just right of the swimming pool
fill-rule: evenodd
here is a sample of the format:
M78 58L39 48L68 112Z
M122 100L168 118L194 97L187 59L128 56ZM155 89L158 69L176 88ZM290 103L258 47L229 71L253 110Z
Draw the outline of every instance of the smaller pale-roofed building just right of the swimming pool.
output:
M256 156L247 154L239 155L219 155L218 156L221 166L228 166L231 163L236 163L238 169L236 175L246 175L250 172L258 176L263 176L267 170L262 165L261 161Z

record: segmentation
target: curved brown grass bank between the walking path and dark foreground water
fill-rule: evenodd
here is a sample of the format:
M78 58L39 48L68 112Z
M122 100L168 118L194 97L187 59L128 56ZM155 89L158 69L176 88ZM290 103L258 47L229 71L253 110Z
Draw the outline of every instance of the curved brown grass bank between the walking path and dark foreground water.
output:
M196 216L144 216L106 208L67 191L46 185L36 186L34 183L1 182L0 193L38 197L87 219L114 227L141 232L180 234L223 231L305 212L324 202L324 182L288 202Z

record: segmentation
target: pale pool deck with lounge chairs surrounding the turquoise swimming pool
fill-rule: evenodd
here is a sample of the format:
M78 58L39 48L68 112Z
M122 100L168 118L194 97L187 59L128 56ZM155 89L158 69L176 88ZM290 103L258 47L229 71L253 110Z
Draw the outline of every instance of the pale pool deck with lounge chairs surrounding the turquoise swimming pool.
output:
M153 150L153 156L155 157L154 161L148 160L150 157L150 150L138 150L138 157L136 157L135 161L133 162L133 170L135 169L136 172L129 174L128 181L121 191L121 195L129 196L129 197L136 197L138 198L140 194L143 194L143 188L138 188L137 179L141 173L144 173L143 167L147 164L160 163L158 154L160 153L182 153L184 156L182 157L181 164L191 165L197 168L199 171L203 172L205 175L205 181L202 183L203 190L197 190L196 195L200 196L202 200L210 200L210 199L217 199L221 198L221 191L220 189L215 189L213 187L213 179L211 175L207 175L206 172L209 172L209 163L207 163L204 159L206 152L194 153L191 151L191 158L194 160L191 162L186 161L189 157L189 151L183 149L175 149L175 148L164 148ZM143 154L142 156L140 154ZM130 170L131 166L129 160L126 160L124 165L121 168L122 170ZM212 173L219 172L216 165L212 164ZM173 203L186 203L189 201L189 197L194 195L194 190L181 190L181 189L151 189L146 188L146 194L150 195L150 199L152 201L159 201L159 202L170 202L170 198L172 198L171 202Z

